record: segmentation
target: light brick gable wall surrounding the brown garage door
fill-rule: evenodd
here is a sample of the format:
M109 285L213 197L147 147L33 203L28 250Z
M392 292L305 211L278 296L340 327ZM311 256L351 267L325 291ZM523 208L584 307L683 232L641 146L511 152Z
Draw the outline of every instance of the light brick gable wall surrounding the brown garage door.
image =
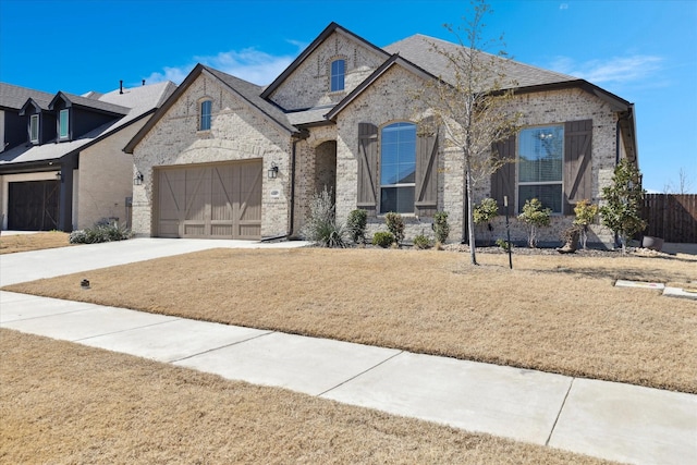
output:
M212 100L210 131L197 131L198 106L204 98ZM204 71L134 150L135 169L143 173L144 182L133 186L133 231L148 236L155 233L154 168L262 159L261 235L285 234L290 225L291 145L289 133ZM266 175L271 163L279 167L276 180ZM278 198L271 197L272 191L280 192Z

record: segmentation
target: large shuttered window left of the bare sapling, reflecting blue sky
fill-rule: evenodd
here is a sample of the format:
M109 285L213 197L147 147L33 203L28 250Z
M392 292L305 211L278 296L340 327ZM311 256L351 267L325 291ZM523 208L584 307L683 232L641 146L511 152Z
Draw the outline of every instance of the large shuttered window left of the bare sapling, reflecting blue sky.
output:
M416 124L394 123L380 134L380 212L414 212Z

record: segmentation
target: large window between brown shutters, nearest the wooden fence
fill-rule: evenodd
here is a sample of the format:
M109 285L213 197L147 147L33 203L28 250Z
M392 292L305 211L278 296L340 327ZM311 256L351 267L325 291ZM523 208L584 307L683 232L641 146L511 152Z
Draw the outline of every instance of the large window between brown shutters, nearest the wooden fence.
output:
M554 213L562 212L564 126L529 127L518 136L518 211L537 198Z

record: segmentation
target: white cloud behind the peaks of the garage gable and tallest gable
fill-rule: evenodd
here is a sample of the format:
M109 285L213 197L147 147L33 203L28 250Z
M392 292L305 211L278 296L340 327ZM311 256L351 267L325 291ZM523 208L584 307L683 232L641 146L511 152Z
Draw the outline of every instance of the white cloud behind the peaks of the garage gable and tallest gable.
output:
M291 56L272 56L254 48L240 51L231 50L220 52L215 57L194 57L194 63L164 68L161 72L151 73L146 81L150 84L162 81L181 84L194 69L195 63L201 63L250 83L267 85L281 74L294 59L295 57Z

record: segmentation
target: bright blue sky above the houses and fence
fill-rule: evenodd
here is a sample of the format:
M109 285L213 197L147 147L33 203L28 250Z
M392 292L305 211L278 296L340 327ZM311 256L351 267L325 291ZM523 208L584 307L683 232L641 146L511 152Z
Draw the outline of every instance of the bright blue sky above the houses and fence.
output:
M649 191L697 193L696 0L491 0L484 35L515 60L636 105ZM198 63L269 84L332 21L383 47L445 40L460 0L0 0L0 81L84 94L180 83ZM489 51L498 51L489 50Z

